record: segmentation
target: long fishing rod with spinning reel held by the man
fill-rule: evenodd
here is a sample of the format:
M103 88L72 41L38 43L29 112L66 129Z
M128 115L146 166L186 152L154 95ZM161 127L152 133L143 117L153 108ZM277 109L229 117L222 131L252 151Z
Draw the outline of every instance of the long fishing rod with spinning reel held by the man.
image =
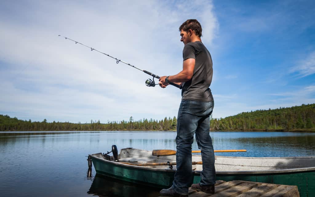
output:
M61 35L58 35L58 36L61 36ZM64 36L61 36L61 37L64 37ZM153 79L151 80L150 78L148 78L148 79L146 80L146 86L154 87L155 85L158 85L158 84L155 84L154 78L159 79L160 77L157 76L157 75L155 75L155 74L153 74L152 72L149 72L149 71L146 71L146 70L142 70L142 69L140 69L140 68L137 68L137 67L135 67L135 66L133 66L133 65L127 63L127 62L124 62L124 61L122 61L122 60L119 60L119 59L117 59L117 58L115 58L115 57L113 57L113 56L111 56L111 55L108 55L108 54L103 53L103 52L101 52L101 51L99 51L99 50L97 50L97 49L94 49L94 48L92 48L92 47L89 47L89 46L87 46L87 45L85 45L85 44L83 44L83 43L79 43L79 42L77 42L77 41L75 41L75 40L72 40L72 39L70 39L70 38L67 38L67 37L64 37L64 38L66 38L66 39L68 39L68 40L71 40L71 41L75 42L76 44L81 44L81 45L83 45L83 46L85 46L85 47L88 47L89 49L91 49L91 51L97 51L97 52L99 52L99 53L101 53L101 54L103 54L103 55L107 55L108 57L111 57L111 58L115 59L117 64L118 64L119 62L123 62L124 64L127 64L127 65L129 65L129 66L131 66L131 67L134 67L134 68L136 68L136 69L138 69L138 70L140 70L140 71L142 71L142 72L145 72L145 73L148 74L148 75L151 75L151 76L153 77ZM170 84L170 85L174 85L175 87L177 87L177 88L179 88L179 89L182 89L182 88L183 88L181 85L178 85L178 84L175 84L175 83L172 83L172 82L169 82L169 84Z

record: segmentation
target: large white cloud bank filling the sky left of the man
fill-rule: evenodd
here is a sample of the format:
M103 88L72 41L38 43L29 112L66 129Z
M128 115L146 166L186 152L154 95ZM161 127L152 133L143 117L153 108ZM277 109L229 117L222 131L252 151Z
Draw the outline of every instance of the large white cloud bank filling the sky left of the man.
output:
M12 12L0 14L5 38L0 40L0 113L70 122L177 115L180 90L146 87L149 75L58 35L160 76L176 74L182 68L181 23L197 18L207 45L218 29L211 1L190 3L189 9L180 4L3 3Z

